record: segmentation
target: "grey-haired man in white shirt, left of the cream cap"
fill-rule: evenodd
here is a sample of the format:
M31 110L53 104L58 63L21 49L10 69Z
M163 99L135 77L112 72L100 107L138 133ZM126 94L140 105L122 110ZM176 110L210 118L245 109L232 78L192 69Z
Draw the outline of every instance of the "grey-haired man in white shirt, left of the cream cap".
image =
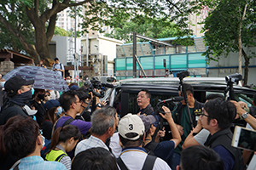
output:
M108 150L106 139L111 137L119 122L117 112L113 107L106 106L93 112L91 116L91 136L84 139L76 147L75 156L90 148L102 147Z

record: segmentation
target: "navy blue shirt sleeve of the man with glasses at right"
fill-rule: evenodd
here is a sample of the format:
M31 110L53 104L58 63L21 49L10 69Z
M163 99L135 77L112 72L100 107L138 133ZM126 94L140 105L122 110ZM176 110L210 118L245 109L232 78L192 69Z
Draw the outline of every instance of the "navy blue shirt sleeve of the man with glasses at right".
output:
M229 150L226 150L222 145L216 146L215 148L213 148L213 150L215 150L218 153L218 155L224 162L224 170L233 169L235 165L235 158L234 156L232 156Z

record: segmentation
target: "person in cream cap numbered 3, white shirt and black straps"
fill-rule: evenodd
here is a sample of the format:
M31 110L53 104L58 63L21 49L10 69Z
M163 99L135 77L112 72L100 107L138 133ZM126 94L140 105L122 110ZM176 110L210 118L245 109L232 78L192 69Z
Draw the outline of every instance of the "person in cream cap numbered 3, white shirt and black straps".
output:
M171 169L166 161L149 156L143 149L146 133L143 120L139 116L127 114L120 120L118 129L120 141L125 147L117 159L119 169Z

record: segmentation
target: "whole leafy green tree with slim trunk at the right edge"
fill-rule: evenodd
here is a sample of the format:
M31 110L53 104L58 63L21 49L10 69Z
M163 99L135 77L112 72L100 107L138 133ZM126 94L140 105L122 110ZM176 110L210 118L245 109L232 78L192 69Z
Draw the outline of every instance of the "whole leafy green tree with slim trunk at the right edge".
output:
M255 57L250 50L255 47L255 9L256 3L253 0L218 1L203 28L208 47L204 54L209 60L218 60L221 55L227 57L230 52L241 51L245 59L244 84L247 84L250 59Z

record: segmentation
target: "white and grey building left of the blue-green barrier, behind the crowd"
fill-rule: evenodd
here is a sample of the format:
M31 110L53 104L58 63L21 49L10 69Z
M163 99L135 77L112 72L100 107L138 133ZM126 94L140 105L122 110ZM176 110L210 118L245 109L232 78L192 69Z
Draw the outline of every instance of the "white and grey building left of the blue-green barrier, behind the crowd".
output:
M79 54L79 66L92 66L95 76L111 76L114 72L114 59L116 58L116 48L123 42L109 37L97 35L95 37L77 38L76 53ZM50 58L60 59L63 65L74 65L74 38L54 36L49 42ZM70 67L67 67L70 68ZM69 71L74 75L73 71ZM80 74L82 72L80 71ZM89 76L93 76L90 74Z

